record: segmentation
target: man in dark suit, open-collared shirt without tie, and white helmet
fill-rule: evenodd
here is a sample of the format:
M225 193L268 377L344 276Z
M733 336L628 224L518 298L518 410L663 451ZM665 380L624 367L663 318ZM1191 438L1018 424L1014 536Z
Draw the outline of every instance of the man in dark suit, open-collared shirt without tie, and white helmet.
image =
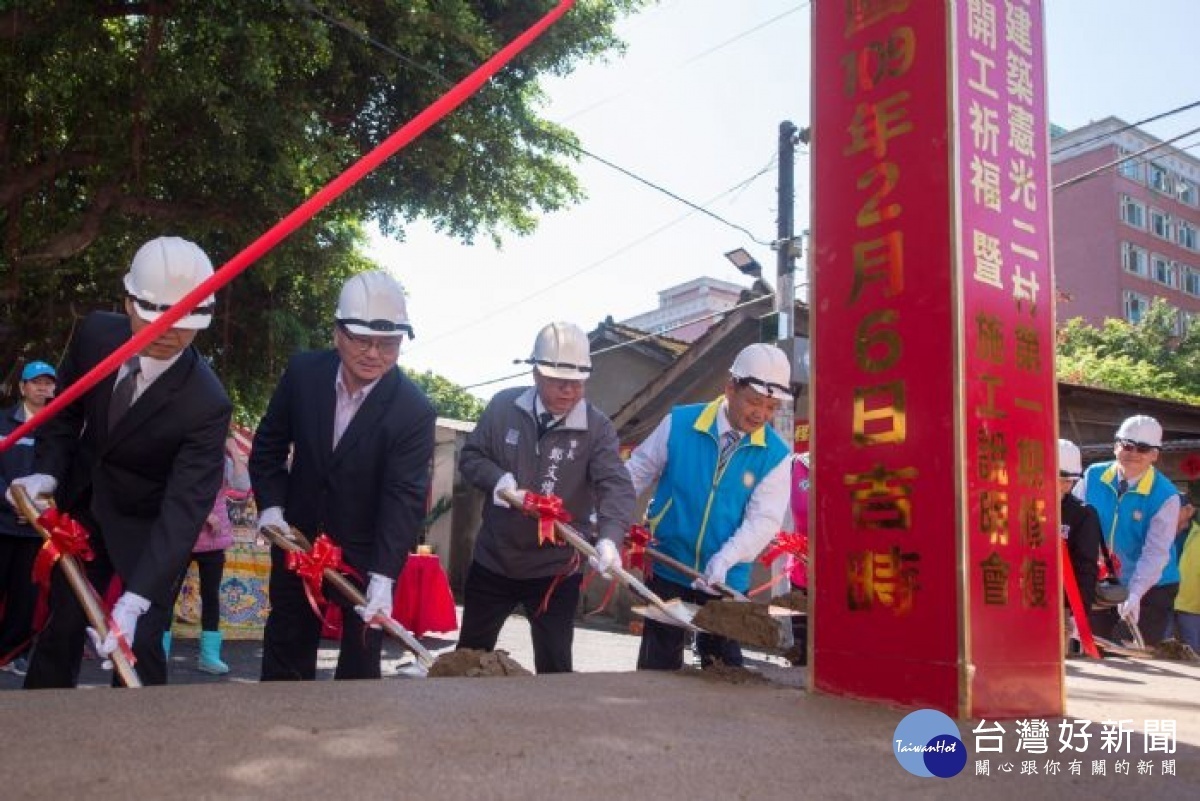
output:
M251 450L258 526L294 525L310 540L328 535L361 577L366 604L342 610L335 679L379 677L377 618L391 615L396 578L425 518L437 415L396 366L412 336L395 278L383 271L350 277L337 301L334 348L292 357ZM262 680L316 679L322 621L277 547L270 602Z

